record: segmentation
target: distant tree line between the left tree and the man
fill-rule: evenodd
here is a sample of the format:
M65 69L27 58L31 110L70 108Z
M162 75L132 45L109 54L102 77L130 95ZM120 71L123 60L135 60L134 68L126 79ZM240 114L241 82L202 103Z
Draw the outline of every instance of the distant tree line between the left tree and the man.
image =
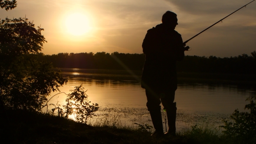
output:
M145 55L113 52L59 53L57 55L39 54L39 60L49 61L58 68L79 69L125 69L142 70Z

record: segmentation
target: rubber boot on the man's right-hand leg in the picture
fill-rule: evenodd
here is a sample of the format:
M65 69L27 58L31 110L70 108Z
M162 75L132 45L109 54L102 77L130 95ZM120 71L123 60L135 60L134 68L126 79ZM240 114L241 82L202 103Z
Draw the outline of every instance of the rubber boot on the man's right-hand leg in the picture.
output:
M166 135L174 135L174 136L176 135L176 126L175 126L176 111L177 111L176 102L174 102L170 108L166 109L167 121L168 121L168 127L169 127L168 131L165 133Z

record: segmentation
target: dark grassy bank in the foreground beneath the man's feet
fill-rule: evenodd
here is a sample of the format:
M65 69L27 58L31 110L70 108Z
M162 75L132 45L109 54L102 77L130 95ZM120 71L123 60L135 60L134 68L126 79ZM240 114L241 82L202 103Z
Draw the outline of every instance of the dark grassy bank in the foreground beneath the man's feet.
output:
M220 144L225 137L214 128L194 126L177 136L156 138L138 128L90 126L57 116L6 111L1 118L2 144Z

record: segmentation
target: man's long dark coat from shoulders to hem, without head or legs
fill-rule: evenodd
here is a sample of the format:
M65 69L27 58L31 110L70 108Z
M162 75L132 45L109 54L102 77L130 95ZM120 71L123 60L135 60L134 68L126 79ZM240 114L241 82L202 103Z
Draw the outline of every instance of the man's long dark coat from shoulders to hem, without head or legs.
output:
M176 61L184 58L182 47L181 35L170 26L159 24L149 29L142 43L146 54L142 83L157 90L176 89Z

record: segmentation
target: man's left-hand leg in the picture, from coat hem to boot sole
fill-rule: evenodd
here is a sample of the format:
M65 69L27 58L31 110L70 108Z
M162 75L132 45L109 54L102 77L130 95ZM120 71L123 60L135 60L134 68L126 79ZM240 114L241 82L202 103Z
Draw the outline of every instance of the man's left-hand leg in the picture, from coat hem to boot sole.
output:
M162 115L161 115L161 101L160 97L156 94L152 94L152 92L149 92L146 90L146 96L147 96L147 107L148 111L150 113L152 123L154 125L154 129L156 130L154 134L152 135L163 135L163 122L162 122Z

